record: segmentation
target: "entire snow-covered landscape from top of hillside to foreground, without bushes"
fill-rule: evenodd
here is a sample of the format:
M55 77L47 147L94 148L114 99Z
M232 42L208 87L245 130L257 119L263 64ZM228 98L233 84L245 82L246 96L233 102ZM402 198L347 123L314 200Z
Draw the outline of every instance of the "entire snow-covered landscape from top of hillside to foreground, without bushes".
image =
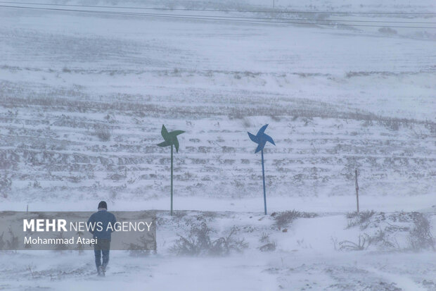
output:
M91 252L1 253L0 290L436 290L436 255L411 247L412 218L391 234L395 247L338 247L386 227L350 227L355 169L361 210L419 211L436 233L436 29L419 28L436 27L422 24L436 22L433 1L275 1L278 10L373 13L363 15L283 15L256 0L56 4L113 8L0 3L0 210L92 211L101 199L113 210L157 209L158 252L113 252L104 280ZM153 18L127 6L340 25ZM169 151L155 146L162 123L186 131L174 218ZM317 214L285 233L262 215L260 156L247 135L266 123L276 142L265 148L269 212ZM248 247L170 252L191 216L211 237L236 225Z

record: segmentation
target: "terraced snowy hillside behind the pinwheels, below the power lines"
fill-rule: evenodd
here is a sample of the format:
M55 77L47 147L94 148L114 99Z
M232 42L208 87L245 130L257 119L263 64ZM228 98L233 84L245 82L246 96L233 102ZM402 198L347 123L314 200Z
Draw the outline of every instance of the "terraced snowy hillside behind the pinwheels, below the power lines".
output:
M259 197L265 123L271 197L352 197L356 168L372 199L434 194L432 30L0 13L10 202L167 197L162 123L178 197Z

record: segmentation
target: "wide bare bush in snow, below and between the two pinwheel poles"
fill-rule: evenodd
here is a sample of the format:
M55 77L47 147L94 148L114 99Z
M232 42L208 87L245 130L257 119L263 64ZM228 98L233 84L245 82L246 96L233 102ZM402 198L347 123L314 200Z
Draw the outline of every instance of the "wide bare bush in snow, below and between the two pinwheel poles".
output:
M248 243L243 239L236 239L234 237L238 228L231 228L231 232L226 237L219 237L216 240L210 238L212 230L206 225L201 223L191 228L187 237L179 235L179 240L176 240L174 246L171 247L171 252L179 255L226 255L231 252L242 252L243 249L248 247Z

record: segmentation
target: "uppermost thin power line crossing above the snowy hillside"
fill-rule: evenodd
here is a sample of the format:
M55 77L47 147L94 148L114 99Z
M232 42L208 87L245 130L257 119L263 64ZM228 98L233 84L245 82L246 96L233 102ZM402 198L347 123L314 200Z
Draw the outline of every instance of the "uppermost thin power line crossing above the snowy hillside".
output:
M276 11L271 10L238 10L238 9L194 9L194 8L163 8L163 7L139 7L139 6L97 6L97 5L75 5L75 4L48 4L48 3L32 3L32 2L13 2L0 1L3 4L32 4L41 6L68 6L68 7L89 7L89 8L123 8L123 9L143 9L143 10L162 10L162 11L217 11L217 12L241 12L241 13L313 13L313 14L399 14L399 15L434 15L436 13L426 12L363 12L363 11Z

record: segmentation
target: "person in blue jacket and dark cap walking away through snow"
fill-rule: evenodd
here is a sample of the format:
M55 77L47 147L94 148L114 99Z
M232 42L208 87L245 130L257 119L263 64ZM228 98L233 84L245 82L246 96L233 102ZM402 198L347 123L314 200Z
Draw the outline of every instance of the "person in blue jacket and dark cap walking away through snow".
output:
M106 266L109 263L110 234L113 232L116 222L115 215L108 212L108 204L104 201L98 203L98 211L88 219L88 225L95 225L95 228L89 228L89 233L92 233L93 238L97 239L96 244L94 244L94 255L97 274L100 276L105 275ZM112 227L108 229L109 224ZM101 228L98 225L101 225ZM101 261L102 256L103 262Z

